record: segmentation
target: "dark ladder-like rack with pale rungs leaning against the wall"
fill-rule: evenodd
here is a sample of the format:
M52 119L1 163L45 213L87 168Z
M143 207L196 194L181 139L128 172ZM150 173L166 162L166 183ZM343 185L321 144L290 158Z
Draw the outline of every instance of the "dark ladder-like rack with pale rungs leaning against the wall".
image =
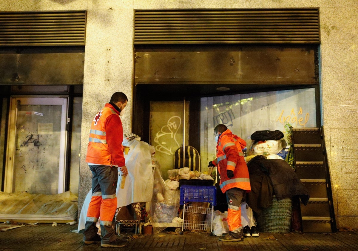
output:
M296 174L310 193L308 204L300 203L302 231L337 232L323 128L291 127L291 133Z

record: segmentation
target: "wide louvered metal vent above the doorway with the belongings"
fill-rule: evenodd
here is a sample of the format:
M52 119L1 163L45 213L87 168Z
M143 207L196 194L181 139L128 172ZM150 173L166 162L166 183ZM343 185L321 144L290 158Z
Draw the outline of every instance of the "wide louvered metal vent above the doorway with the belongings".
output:
M320 43L318 8L135 10L134 44Z

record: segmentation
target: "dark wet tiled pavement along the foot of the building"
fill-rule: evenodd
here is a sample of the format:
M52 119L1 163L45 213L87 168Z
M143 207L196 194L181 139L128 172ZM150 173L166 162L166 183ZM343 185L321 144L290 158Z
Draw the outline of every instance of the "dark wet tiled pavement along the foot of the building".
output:
M166 228L157 234L134 235L121 231L129 245L122 248L104 248L100 244L87 245L83 235L74 233L76 225L26 225L0 232L0 250L358 250L358 231L336 233L260 233L260 237L247 237L242 242L222 242L208 232L185 230L183 235ZM127 232L127 233L126 233Z

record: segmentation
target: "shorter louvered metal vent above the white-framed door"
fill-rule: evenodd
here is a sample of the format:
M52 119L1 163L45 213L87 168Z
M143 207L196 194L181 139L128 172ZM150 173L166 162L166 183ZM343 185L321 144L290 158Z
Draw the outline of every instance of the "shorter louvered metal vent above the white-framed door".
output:
M0 46L84 46L86 11L0 12Z

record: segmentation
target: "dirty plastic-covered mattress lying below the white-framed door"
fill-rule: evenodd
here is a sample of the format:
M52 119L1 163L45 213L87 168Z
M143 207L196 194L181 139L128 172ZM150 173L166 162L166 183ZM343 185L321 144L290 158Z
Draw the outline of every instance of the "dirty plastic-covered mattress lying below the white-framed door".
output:
M78 197L61 194L0 192L0 222L69 223L77 221Z

